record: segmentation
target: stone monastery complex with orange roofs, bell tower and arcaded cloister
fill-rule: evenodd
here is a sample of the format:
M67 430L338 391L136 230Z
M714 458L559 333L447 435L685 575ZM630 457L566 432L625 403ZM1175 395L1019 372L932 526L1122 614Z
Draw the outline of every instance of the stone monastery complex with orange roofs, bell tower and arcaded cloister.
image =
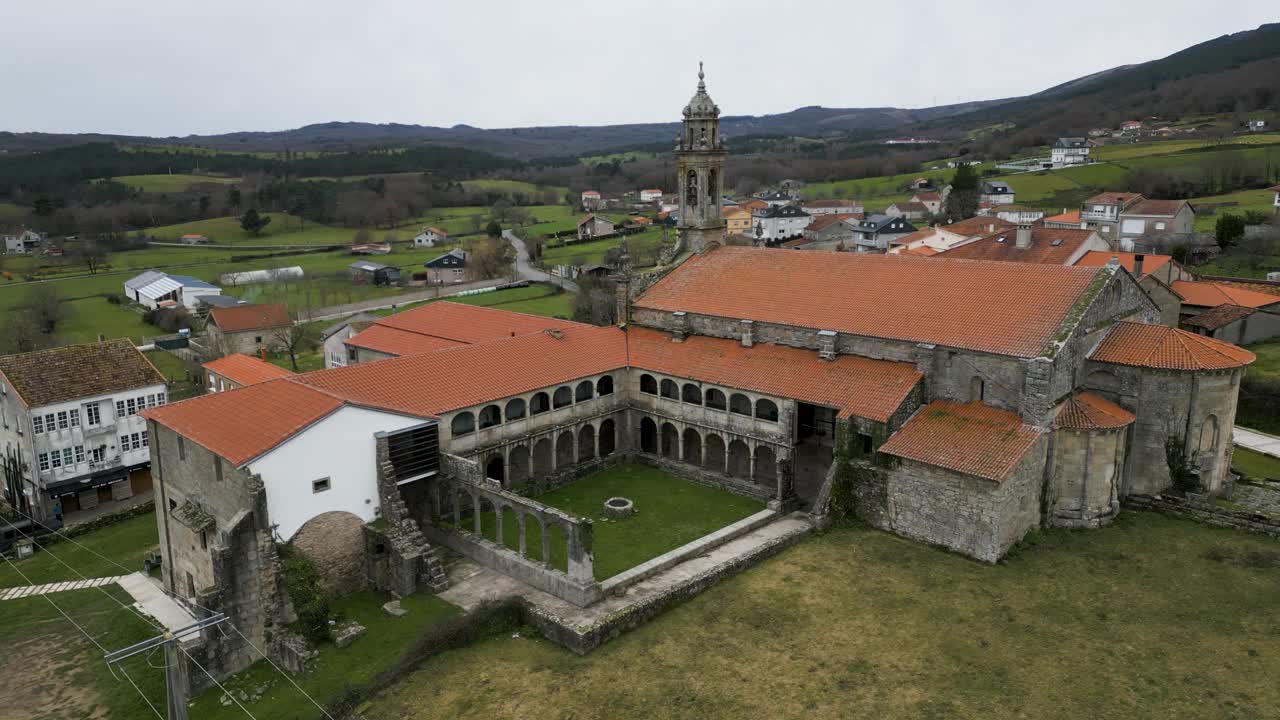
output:
M412 352L147 410L165 588L278 653L278 542L325 588L399 594L448 585L444 546L529 588L539 629L585 652L598 626L559 619L627 585L594 578L590 520L536 496L618 461L754 498L762 528L823 527L845 497L873 528L983 562L1037 528L1105 527L1175 475L1229 489L1251 352L1156 324L1119 261L724 245L718 129L699 73L676 151L689 255L622 278L616 327L433 304L348 341ZM1097 237L1025 232L1009 240L1037 252ZM257 660L238 646L223 638L211 671Z

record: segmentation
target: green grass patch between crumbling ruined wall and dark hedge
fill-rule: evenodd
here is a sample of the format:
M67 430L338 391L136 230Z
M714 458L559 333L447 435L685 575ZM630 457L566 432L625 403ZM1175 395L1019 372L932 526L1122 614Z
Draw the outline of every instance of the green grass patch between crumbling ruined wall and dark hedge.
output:
M394 665L428 626L460 612L457 607L433 594L417 593L401 600L401 607L408 610L407 615L390 618L383 612L383 603L388 600L390 597L385 594L362 591L333 601L337 614L360 623L366 633L346 648L328 643L319 647L320 657L314 661L311 670L294 676L294 682L307 694L324 705L348 687L371 680ZM223 685L237 697L241 692L252 697L265 685L268 691L257 702L243 702L246 710L256 717L321 717L320 711L266 662L253 664ZM221 705L221 691L212 688L192 700L191 716L201 720L234 720L244 717L244 712L236 703ZM141 720L143 716L138 717Z

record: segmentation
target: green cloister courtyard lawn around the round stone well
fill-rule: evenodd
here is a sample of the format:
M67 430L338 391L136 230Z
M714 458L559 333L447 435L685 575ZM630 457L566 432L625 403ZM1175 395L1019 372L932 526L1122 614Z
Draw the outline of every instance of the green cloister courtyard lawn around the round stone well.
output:
M623 520L604 518L604 501L611 497L635 502L635 515ZM600 470L534 500L593 520L596 580L612 578L764 509L755 500L691 483L646 465ZM462 527L467 530L475 527L470 512L462 514ZM494 529L493 514L484 515L481 532L494 539ZM527 556L541 560L536 524L526 525L526 533ZM550 534L550 564L564 570L563 537L558 529ZM513 512L503 518L502 539L507 547L520 548L520 525Z

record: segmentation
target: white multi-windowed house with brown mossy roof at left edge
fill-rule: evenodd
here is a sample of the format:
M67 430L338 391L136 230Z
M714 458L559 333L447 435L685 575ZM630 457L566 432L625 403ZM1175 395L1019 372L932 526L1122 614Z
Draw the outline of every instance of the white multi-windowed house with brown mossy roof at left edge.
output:
M128 338L0 356L5 496L38 521L151 489L140 413L168 402L164 375Z

